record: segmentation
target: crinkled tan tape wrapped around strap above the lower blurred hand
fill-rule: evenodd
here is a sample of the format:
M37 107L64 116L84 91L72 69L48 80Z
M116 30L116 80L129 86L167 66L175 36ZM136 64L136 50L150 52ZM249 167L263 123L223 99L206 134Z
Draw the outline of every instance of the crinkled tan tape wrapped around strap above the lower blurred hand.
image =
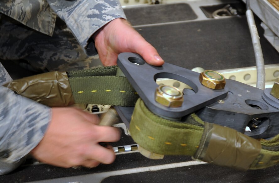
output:
M66 72L47 72L11 81L4 86L16 93L49 107L74 104Z

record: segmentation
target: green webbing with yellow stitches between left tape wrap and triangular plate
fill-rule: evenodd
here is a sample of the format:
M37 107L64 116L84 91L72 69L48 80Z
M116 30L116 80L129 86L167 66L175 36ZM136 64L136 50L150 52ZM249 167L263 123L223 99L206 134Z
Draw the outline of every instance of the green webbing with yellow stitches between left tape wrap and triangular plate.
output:
M68 72L75 103L134 106L139 96L126 77L115 76L117 68Z

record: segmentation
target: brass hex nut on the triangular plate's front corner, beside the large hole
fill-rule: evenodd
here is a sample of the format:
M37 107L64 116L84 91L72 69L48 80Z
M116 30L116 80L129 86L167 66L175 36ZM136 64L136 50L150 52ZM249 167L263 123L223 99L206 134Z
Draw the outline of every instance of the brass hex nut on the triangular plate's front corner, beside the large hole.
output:
M174 86L161 85L156 89L155 100L166 107L181 107L183 93Z

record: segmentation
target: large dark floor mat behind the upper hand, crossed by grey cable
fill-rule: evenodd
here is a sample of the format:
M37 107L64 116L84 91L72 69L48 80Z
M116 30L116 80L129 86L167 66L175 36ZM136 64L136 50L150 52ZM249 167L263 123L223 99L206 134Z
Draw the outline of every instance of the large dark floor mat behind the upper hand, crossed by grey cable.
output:
M278 63L278 52L264 38L262 28L257 27L265 64ZM221 70L255 65L245 16L137 29L166 62L187 69Z

